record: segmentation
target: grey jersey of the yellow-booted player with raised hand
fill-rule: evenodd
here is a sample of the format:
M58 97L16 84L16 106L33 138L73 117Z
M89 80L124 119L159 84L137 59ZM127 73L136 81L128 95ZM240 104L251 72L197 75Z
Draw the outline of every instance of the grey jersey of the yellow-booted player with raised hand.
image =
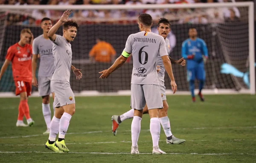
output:
M70 82L70 69L72 62L71 44L67 40L56 35L55 41L52 41L52 54L54 58L54 71L52 80Z

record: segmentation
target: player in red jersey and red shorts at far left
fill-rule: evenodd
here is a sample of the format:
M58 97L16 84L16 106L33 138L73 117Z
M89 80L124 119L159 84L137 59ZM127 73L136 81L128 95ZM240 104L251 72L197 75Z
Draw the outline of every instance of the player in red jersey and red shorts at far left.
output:
M0 80L10 62L12 62L12 75L16 86L16 95L20 95L19 114L16 126L33 126L35 123L29 115L28 96L32 89L32 42L33 34L30 29L20 32L20 41L7 50L6 60L0 71ZM27 125L23 123L26 117Z

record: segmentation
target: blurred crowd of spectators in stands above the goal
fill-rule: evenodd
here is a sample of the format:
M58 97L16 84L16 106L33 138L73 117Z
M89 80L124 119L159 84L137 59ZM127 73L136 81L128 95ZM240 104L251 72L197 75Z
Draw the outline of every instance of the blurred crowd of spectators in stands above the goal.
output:
M241 0L240 0L241 1ZM244 0L243 0L244 1ZM180 4L180 3L222 3L230 0L0 0L0 4L9 5L98 5L98 4ZM40 25L43 17L58 20L63 11L57 10L27 10L7 11L8 24ZM222 23L240 21L238 8L219 9L148 9L148 10L76 10L70 18L79 24L129 24L137 23L137 16L141 13L151 14L155 21L166 17L171 23Z

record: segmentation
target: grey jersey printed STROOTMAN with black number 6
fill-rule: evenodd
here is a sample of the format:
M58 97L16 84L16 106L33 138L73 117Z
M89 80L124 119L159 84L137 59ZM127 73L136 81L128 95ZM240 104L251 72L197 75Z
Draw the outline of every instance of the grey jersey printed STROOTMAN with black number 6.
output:
M152 32L141 31L131 34L125 44L127 53L132 53L132 84L159 85L157 76L157 55L168 55L165 40Z

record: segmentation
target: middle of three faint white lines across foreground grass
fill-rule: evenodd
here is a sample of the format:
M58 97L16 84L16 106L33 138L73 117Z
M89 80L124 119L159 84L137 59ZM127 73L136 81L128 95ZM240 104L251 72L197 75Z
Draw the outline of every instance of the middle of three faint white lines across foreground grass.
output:
M159 140L159 141L166 141L166 140ZM214 141L214 140L186 140L186 141ZM234 139L234 140L227 140L227 141L256 141L256 140L248 140L248 139ZM218 140L218 142L227 142L225 140ZM151 141L142 141L142 142L151 142ZM66 143L67 145L73 144L107 144L107 143L131 143L131 141L107 141L107 142L92 142L92 143ZM3 144L0 146L44 146L44 144Z

